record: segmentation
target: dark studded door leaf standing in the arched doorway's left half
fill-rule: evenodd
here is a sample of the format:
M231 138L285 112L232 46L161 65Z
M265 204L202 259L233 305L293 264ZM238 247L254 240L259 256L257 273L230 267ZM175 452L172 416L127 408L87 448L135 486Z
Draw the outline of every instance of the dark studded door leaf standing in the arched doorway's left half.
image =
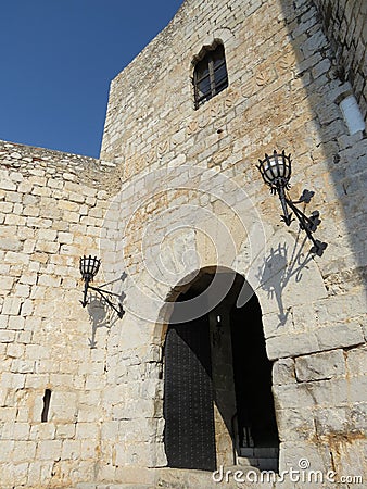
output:
M169 467L215 471L208 317L170 325L165 343L165 450Z

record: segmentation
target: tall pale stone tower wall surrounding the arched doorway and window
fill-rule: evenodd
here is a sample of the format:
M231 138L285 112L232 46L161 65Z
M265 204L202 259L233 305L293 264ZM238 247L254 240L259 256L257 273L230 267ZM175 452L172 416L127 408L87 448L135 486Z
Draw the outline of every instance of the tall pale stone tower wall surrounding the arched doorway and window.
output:
M229 86L195 111L192 61L217 39ZM364 471L366 424L357 413L366 409L366 377L355 361L363 362L366 341L367 141L363 133L349 136L338 105L346 86L333 59L311 1L187 0L113 80L101 156L119 165L123 181L116 263L129 277L123 323L130 331L114 362L126 392L132 363L153 365L155 398L144 412L129 412L128 426L162 422L150 454L126 432L121 465L166 464L163 304L198 269L222 265L244 275L262 305L276 362L280 467L298 467L302 451L314 469L345 474L338 454L347 453ZM292 197L316 192L309 210L319 209L318 235L329 243L321 259L307 256L295 223L286 229L279 222L279 201L261 180L255 164L273 149L293 155ZM155 348L149 360L147 341Z

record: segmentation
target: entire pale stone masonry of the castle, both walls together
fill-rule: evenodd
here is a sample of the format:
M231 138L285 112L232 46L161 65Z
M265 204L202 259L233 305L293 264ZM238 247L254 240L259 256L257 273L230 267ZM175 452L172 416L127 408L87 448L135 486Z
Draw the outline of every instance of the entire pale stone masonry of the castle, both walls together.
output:
M311 0L186 0L112 82L101 160L1 142L2 489L220 487L167 467L163 437L172 302L218 266L261 304L279 471L367 480L367 139L324 28ZM192 62L216 40L229 85L194 110ZM321 258L255 167L274 149L292 153L291 196L315 191ZM122 319L93 294L81 308L84 254ZM286 479L249 487L304 487Z

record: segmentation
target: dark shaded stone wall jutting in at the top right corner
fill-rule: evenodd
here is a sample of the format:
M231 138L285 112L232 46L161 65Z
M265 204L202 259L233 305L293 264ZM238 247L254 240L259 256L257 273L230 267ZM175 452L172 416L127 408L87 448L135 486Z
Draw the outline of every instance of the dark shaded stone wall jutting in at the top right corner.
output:
M367 5L364 0L315 0L324 30L336 53L339 76L351 82L360 110L367 113Z

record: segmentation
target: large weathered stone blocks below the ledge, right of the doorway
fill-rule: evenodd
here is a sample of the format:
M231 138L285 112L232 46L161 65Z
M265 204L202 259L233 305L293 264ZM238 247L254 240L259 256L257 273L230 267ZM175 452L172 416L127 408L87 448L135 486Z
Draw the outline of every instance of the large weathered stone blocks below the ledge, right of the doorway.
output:
M365 480L366 347L279 360L274 384L284 440L280 465L294 467L306 457L311 467ZM307 450L309 444L317 448Z

